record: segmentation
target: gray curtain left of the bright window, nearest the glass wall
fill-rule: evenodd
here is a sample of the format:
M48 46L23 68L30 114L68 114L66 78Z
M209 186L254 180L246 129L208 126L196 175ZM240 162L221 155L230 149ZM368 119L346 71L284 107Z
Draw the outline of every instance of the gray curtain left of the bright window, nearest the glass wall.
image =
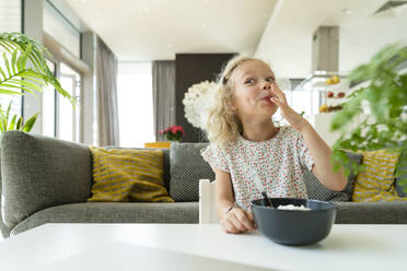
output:
M96 116L98 145L119 145L117 109L117 58L97 37L96 43Z

